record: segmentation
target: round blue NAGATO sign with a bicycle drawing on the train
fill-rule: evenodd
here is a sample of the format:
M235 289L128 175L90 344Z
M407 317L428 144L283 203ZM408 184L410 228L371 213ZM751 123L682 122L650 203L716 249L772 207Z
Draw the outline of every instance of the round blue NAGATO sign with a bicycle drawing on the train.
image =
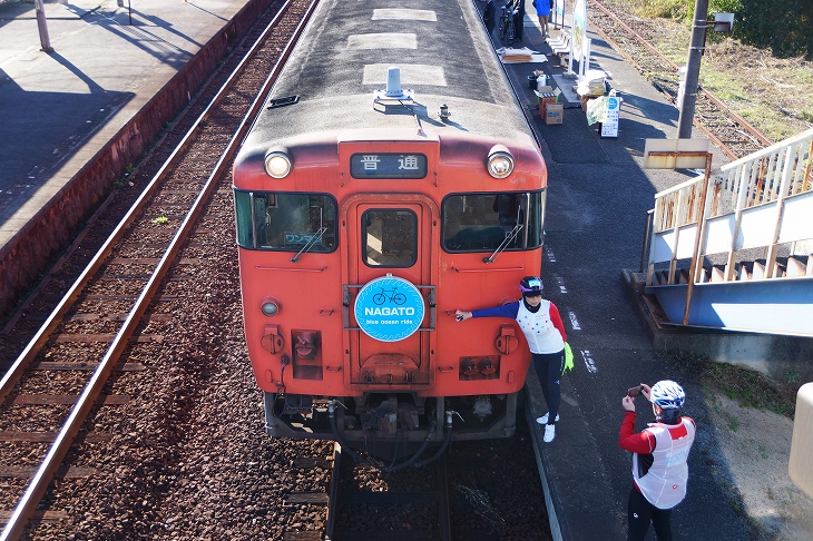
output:
M411 336L421 326L423 312L423 297L418 287L389 274L362 287L354 308L359 327L380 342Z

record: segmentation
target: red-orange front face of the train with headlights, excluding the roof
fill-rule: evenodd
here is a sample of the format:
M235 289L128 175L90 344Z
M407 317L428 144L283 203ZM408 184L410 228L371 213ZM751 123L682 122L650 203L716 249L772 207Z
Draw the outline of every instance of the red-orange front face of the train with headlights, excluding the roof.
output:
M272 435L406 449L513 433L521 333L454 311L515 299L539 274L545 165L527 138L398 131L246 147L235 166L246 344Z

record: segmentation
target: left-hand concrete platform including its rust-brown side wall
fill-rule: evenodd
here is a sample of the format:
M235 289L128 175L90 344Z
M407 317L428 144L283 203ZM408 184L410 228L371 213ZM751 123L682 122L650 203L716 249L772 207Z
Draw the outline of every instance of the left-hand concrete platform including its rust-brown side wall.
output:
M123 3L0 3L2 314L271 0Z

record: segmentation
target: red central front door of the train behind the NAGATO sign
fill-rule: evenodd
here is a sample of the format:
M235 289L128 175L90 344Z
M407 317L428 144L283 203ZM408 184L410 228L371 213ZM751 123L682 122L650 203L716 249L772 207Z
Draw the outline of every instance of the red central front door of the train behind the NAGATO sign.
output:
M369 195L345 208L349 384L382 391L431 384L435 207L414 195Z

